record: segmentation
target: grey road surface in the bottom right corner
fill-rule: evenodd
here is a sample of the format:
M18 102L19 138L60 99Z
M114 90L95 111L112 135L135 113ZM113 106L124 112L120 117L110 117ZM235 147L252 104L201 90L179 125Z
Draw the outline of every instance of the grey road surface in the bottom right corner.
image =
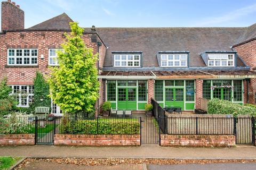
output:
M147 165L147 170L252 170L256 163L216 163L216 164L182 164L182 165Z

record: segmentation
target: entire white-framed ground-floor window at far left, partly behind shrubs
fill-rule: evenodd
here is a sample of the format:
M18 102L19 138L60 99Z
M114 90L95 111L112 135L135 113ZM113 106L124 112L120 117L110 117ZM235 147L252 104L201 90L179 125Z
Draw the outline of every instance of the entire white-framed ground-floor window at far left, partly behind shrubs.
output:
M34 101L34 86L33 85L10 85L12 92L17 101L17 107L29 107L29 104Z

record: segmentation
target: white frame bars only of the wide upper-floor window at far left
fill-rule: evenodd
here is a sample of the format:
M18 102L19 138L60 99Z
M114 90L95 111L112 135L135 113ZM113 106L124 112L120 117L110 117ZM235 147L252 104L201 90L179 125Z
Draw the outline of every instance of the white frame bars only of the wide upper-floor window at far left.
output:
M9 56L9 50L14 50L14 56ZM17 56L17 50L21 50L21 56ZM29 50L29 56L25 56L25 50ZM36 50L36 55L32 56L32 51ZM9 63L9 58L14 58L14 64ZM17 64L17 58L21 58L21 64ZM29 64L25 64L25 58L29 58ZM32 64L32 58L36 58L36 64ZM7 65L38 65L38 49L36 48L8 48L7 49Z

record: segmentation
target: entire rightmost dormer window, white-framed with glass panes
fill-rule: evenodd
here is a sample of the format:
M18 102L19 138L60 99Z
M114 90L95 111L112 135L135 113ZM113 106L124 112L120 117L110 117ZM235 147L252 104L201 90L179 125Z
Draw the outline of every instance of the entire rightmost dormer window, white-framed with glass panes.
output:
M208 66L233 67L235 66L234 54L208 54Z

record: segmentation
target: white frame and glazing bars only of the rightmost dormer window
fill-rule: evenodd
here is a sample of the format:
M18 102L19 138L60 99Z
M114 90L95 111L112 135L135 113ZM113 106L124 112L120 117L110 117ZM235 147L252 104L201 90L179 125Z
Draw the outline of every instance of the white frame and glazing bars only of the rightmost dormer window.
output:
M225 58L228 58L229 55L233 56L232 60L225 59ZM208 57L209 67L234 67L235 66L235 54L208 54L207 57ZM214 59L210 60L210 58L214 58ZM216 62L218 61L220 62L220 65L216 65ZM222 65L222 61L226 61L226 65ZM213 65L210 65L210 62L213 62ZM228 62L233 62L233 65L228 65Z

